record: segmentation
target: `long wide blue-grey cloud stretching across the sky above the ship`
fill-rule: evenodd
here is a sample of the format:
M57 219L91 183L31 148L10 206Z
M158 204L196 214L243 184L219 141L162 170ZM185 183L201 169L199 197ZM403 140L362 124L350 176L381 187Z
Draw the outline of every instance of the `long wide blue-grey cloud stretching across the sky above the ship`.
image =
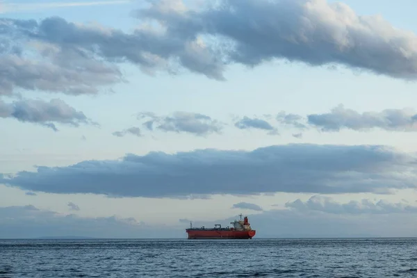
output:
M6 174L0 183L47 193L186 197L259 193L391 193L416 188L416 156L379 145L291 144L199 149Z

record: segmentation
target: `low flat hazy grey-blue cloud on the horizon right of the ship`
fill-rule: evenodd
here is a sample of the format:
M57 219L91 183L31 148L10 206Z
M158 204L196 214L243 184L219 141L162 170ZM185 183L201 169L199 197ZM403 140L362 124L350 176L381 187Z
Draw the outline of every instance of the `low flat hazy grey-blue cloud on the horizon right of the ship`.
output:
M261 238L350 238L417 236L416 213L337 214L294 209L248 215ZM218 221L219 222L219 221Z

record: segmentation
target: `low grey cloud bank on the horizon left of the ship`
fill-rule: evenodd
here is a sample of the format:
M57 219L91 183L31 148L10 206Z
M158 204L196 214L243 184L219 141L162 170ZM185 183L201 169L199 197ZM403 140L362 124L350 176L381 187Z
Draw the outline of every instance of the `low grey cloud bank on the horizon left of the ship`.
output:
M116 215L83 218L42 210L35 206L0 207L0 238L37 238L43 236L88 236L96 238L183 238L181 227L164 229L149 226L135 218Z

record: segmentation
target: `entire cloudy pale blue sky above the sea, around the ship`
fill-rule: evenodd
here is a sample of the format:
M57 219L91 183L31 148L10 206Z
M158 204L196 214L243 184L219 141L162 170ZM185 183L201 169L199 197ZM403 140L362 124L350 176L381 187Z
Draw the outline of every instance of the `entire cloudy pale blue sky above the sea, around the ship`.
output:
M417 236L415 8L0 1L0 238Z

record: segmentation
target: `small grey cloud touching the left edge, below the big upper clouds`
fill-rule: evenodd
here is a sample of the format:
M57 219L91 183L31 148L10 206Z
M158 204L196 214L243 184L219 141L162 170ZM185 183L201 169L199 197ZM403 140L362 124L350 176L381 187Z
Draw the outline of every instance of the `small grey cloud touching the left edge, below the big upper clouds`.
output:
M20 99L12 103L0 100L0 118L13 118L19 122L31 122L58 131L54 123L79 126L92 124L81 111L76 111L61 99Z

